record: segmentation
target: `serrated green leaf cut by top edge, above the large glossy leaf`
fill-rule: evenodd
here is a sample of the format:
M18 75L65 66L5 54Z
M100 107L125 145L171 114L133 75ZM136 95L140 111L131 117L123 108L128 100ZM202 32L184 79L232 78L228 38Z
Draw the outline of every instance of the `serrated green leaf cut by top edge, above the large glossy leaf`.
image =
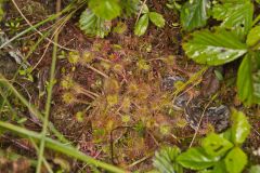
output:
M193 30L207 24L208 0L186 1L181 9L181 24L185 30Z

